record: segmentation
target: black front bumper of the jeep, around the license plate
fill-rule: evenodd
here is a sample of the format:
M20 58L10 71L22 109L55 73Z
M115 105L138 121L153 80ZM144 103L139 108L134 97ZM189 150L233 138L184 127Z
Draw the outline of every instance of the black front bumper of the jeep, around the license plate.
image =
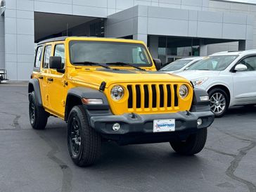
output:
M133 117L134 116L134 117ZM203 123L198 126L198 118ZM153 133L153 120L175 119L175 132L195 132L197 129L207 128L212 124L215 116L210 111L179 112L154 115L139 115L125 113L124 115L92 116L91 127L101 134L125 135L125 134L155 134ZM113 130L113 124L119 123L120 129Z

